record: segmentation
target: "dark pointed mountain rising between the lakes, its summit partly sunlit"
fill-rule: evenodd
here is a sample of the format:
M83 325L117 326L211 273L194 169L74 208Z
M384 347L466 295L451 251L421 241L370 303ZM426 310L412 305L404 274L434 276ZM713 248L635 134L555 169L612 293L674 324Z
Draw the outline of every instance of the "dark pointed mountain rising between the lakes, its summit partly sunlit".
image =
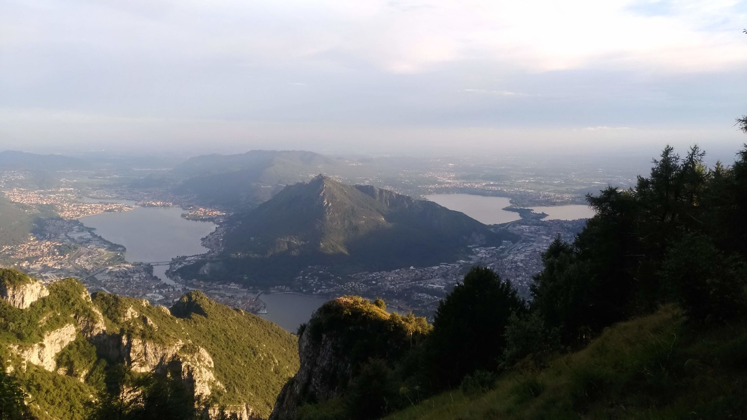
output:
M468 245L516 239L432 201L323 175L285 187L228 223L223 258L202 267L203 275L270 282L309 265L339 272L430 266L465 257Z

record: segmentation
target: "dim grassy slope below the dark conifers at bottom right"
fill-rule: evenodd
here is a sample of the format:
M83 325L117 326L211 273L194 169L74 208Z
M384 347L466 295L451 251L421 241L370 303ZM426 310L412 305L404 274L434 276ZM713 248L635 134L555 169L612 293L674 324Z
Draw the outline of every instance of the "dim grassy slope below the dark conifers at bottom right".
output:
M489 392L444 392L387 419L747 419L744 321L695 329L663 307L544 369L520 366Z

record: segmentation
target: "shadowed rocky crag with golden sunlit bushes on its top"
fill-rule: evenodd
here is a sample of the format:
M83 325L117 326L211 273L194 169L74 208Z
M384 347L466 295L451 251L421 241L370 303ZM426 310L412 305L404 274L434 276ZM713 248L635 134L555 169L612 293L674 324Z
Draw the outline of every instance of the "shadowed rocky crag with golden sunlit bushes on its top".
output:
M431 329L425 318L386 312L380 299L344 296L323 304L300 328L300 369L283 386L270 420L376 418L379 407L368 410L357 398L366 401L367 389L383 392L376 375L401 362Z

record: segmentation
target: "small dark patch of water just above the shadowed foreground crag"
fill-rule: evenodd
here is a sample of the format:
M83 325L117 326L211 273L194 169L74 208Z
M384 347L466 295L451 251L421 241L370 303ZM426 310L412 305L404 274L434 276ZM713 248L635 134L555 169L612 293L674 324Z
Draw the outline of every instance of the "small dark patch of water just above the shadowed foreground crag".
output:
M259 298L267 305L267 313L259 316L291 333L295 333L301 323L308 322L311 313L330 299L294 293L267 292L262 292Z

